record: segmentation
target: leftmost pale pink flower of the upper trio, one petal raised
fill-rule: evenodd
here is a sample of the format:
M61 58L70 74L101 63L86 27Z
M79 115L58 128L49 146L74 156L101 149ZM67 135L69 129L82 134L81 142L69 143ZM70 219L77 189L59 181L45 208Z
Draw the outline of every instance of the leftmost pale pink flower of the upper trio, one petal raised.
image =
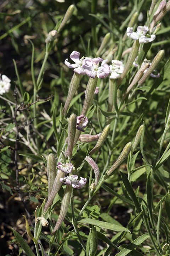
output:
M80 53L73 51L70 54L70 59L73 60L73 62L75 62L75 64L70 64L68 62L68 59L65 60L65 65L68 66L69 68L74 68L73 71L75 73L81 74L81 75L85 75L85 70L83 70L83 66L82 66L82 60L80 59Z

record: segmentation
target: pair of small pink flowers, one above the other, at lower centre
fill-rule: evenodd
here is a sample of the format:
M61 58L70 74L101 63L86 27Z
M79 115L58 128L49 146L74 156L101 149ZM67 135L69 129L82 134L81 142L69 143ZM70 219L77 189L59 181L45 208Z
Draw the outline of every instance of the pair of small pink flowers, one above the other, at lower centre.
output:
M72 185L73 188L83 188L84 185L87 182L86 178L82 178L80 177L80 181L78 180L78 176L77 175L71 175L70 172L72 172L72 170L74 169L74 165L73 164L63 164L62 162L58 162L58 172L62 171L66 174L69 174L67 177L63 177L60 178L60 182L65 183L66 185Z

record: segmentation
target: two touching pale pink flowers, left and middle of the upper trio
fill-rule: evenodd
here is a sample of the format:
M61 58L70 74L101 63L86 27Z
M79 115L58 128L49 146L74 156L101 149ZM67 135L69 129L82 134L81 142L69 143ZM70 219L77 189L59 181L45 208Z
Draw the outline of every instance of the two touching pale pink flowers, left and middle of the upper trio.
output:
M70 64L68 62L68 59L65 60L65 65L68 66L69 68L74 68L74 72L81 74L81 75L85 75L87 74L89 77L91 78L95 78L95 76L97 75L98 78L104 78L106 76L109 75L109 73L111 73L111 70L109 68L109 65L106 64L106 61L102 58L85 58L83 57L82 59L80 59L80 53L73 51L70 54L70 59L73 60L73 62L75 62L75 64ZM99 66L99 64L101 63L101 66Z

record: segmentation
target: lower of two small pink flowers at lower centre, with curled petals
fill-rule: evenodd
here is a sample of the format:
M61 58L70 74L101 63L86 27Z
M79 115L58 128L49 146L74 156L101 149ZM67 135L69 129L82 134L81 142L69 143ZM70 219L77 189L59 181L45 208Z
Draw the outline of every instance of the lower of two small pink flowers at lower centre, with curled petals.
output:
M73 188L83 188L87 182L87 179L80 177L79 181L77 175L69 175L67 177L60 178L60 182L69 186L72 185Z

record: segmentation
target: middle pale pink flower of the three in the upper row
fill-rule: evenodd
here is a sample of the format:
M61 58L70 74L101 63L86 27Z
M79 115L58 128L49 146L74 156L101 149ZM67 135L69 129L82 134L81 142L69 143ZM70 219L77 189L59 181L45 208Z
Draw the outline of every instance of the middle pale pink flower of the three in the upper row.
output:
M100 62L102 62L101 66L99 66ZM98 78L104 78L111 73L109 65L106 64L106 61L103 61L103 59L100 57L94 59L85 58L82 60L82 66L86 75L93 79L96 75Z

